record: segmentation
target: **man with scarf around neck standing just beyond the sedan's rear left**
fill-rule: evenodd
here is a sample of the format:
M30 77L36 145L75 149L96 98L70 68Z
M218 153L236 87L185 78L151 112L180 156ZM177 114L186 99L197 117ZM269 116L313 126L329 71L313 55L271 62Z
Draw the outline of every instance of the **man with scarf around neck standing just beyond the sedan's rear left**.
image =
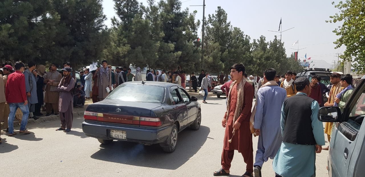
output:
M102 67L99 68L99 76L97 78L97 86L99 87L99 101L103 101L108 95L107 87L109 91L112 90L112 71L108 68L107 60L101 62Z

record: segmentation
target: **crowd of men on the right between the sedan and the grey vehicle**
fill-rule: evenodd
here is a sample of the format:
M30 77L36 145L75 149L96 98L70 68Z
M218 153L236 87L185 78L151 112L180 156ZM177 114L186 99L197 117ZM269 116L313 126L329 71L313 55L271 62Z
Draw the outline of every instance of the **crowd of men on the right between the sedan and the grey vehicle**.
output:
M246 172L242 176L261 177L262 165L273 159L273 170L277 177L315 176L315 153L328 150L328 141L333 123L318 120L321 106L338 106L343 109L353 91L350 74L330 75L331 88L320 83L320 76L311 80L296 73L285 72L276 75L274 68L267 68L258 80L258 91L254 106L254 87L251 82L258 78L247 78L245 66L241 63L231 67L231 81L223 84L227 93L227 110L222 119L225 128L222 168L214 176L230 173L234 150L242 154ZM251 82L249 82L251 81ZM323 94L329 92L324 103ZM251 111L251 108L252 111ZM252 135L259 136L255 162L253 160Z

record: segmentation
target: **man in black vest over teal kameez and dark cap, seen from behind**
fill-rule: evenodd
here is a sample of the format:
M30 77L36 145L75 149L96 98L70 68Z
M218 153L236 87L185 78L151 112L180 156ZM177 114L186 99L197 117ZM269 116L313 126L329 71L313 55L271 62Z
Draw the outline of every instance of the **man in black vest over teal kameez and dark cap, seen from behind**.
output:
M285 99L281 109L283 142L273 161L276 176L315 176L315 153L322 151L324 135L318 102L308 97L309 84L306 77L297 78L298 93Z

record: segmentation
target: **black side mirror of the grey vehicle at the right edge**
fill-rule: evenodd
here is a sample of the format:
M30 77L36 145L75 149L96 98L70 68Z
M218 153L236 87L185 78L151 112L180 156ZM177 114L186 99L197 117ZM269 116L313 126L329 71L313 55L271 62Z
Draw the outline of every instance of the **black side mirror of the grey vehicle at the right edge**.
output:
M337 106L321 107L318 111L318 120L321 122L339 122L341 110Z

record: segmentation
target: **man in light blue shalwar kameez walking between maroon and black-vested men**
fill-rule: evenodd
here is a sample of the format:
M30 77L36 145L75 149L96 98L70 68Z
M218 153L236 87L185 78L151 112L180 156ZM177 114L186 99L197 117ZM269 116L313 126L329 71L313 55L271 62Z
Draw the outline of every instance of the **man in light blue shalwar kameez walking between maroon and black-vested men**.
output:
M254 130L259 137L254 164L255 177L261 177L262 165L269 158L275 157L281 144L281 106L287 98L287 91L278 86L275 77L274 68L267 68L263 78L265 84L257 91Z

